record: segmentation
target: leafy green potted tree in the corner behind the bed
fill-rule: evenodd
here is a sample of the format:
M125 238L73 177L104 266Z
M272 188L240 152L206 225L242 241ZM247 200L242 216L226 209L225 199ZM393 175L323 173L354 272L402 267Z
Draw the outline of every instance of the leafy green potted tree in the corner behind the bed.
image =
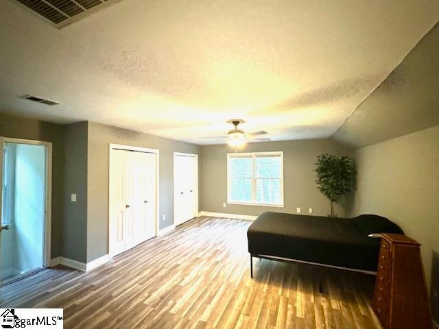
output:
M348 156L320 154L317 157L317 187L331 202L331 217L336 217L334 203L350 192L355 180L355 164Z

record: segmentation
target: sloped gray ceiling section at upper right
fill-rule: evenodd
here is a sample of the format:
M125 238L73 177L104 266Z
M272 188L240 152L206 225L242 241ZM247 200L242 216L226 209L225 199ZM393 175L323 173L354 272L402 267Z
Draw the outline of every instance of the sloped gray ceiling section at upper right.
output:
M364 147L434 125L439 125L439 23L333 138L351 147Z

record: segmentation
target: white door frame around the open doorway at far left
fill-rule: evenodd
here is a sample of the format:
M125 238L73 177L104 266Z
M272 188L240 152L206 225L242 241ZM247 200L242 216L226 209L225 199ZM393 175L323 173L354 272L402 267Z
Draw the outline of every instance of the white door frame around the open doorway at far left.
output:
M43 145L46 149L46 180L45 180L45 234L43 267L50 266L51 260L51 223L52 223L52 143L45 141L35 141L32 139L0 137L0 186L3 186L3 146L4 143L18 143L27 145ZM3 204L3 188L0 188L0 208ZM3 212L0 211L0 223Z

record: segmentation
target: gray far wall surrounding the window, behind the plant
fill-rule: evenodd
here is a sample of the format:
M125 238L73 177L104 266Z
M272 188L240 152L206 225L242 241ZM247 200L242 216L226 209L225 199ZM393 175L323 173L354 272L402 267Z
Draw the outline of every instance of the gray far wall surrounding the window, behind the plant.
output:
M233 153L233 149L228 145L202 146L201 149L200 210L238 215L259 215L267 210L296 213L297 207L302 208L302 215L308 215L308 208L313 208L313 215L329 215L331 212L329 201L320 194L316 186L314 163L317 156L322 153L351 155L349 149L329 139L249 143L239 152L284 152L285 208L234 204L228 204L223 208L223 202L227 202L226 155ZM346 203L337 205L335 209L340 217L345 216L350 210Z

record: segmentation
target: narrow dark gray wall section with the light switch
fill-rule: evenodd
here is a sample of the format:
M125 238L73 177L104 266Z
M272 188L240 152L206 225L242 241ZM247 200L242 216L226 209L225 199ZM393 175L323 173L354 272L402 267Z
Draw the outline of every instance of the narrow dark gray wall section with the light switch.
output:
M80 122L64 125L64 130L62 256L86 263L88 124ZM72 193L76 194L76 202L71 202Z

